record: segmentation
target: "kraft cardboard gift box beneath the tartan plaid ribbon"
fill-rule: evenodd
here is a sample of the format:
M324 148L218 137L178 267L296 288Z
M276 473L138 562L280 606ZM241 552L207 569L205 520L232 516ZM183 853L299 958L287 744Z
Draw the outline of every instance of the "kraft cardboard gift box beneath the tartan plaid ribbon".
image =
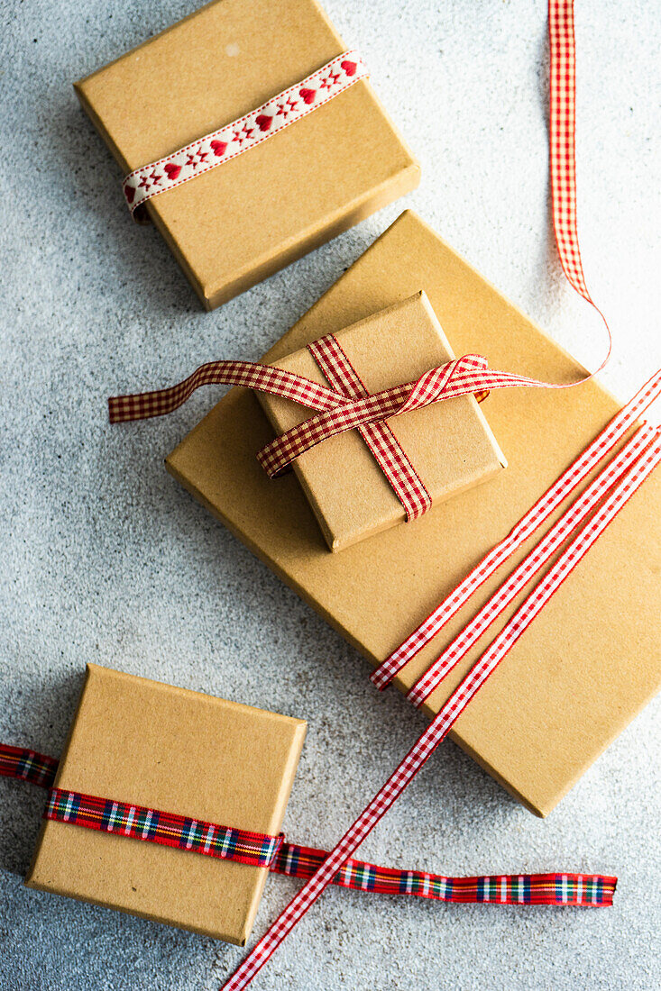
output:
M301 719L90 664L55 785L277 835L305 731ZM26 884L245 943L267 867L119 831L45 820Z

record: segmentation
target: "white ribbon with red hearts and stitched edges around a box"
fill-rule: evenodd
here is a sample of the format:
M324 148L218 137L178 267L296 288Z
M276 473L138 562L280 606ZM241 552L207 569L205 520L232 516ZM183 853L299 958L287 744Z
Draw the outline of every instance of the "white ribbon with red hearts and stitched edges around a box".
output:
M144 204L153 196L175 189L261 145L368 75L367 66L357 52L344 52L256 110L158 162L136 168L122 183L129 210L136 219L147 219Z

